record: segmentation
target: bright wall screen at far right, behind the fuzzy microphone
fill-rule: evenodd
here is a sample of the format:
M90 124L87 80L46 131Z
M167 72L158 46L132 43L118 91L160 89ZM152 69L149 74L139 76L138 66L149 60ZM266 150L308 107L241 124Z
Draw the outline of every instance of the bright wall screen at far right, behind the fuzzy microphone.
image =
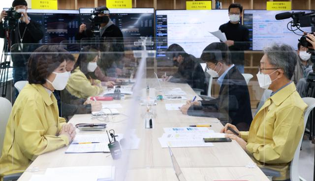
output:
M292 11L312 12L312 10ZM287 29L287 24L292 18L285 20L276 20L275 18L276 14L283 12L287 11L244 10L244 26L249 29L250 40L252 41L250 50L262 50L265 46L274 42L286 43L297 49L298 39L301 36ZM294 29L296 28L293 27ZM310 32L311 27L301 28L301 30ZM300 30L295 32L303 34Z

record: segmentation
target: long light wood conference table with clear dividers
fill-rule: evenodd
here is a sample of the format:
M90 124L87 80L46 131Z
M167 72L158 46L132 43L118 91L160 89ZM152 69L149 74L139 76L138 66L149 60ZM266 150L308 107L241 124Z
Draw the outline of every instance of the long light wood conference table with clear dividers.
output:
M150 81L149 81L150 82ZM158 87L158 84L151 84ZM150 87L151 88L151 87ZM181 88L192 99L196 94L188 84L163 82L156 95L163 90ZM164 96L164 95L163 95ZM197 100L200 99L199 97ZM153 128L145 128L144 114L146 106L133 105L134 99L126 96L123 100L104 101L106 104L121 104L117 108L122 115L109 116L105 122L106 130L114 129L116 134L124 134L126 126L140 138L138 149L126 151L125 161L113 160L110 153L65 153L67 147L39 155L23 173L19 181L29 181L33 174L44 174L47 168L72 166L126 167L124 179L121 172L115 178L125 181L177 181L169 150L161 148L158 138L164 133L164 127L186 127L191 124L211 124L209 129L220 132L221 122L216 118L190 117L180 111L167 111L165 104L185 103L187 100L158 100L152 106L154 113ZM127 116L128 115L128 116ZM130 116L132 115L132 116ZM133 119L130 119L133 118ZM92 119L91 114L74 115L69 123L104 123ZM77 134L106 134L106 131L79 131ZM187 181L269 181L254 164L250 156L234 140L225 143L213 143L213 147L172 148L172 152ZM124 151L123 151L124 154ZM123 156L124 157L124 156ZM123 159L123 158L122 158Z

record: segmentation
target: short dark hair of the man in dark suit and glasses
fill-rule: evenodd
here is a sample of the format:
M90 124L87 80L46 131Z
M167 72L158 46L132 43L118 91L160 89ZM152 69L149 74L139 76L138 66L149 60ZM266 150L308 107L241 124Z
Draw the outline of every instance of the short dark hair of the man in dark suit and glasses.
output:
M206 46L206 48L202 51L200 59L205 62L213 63L218 63L221 61L227 65L230 65L231 60L229 55L230 53L225 43L214 42Z

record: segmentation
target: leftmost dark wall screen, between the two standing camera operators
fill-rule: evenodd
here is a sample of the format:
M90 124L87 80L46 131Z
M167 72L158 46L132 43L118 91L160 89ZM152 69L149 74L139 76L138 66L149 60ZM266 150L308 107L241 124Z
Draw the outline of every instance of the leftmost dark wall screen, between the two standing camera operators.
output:
M32 21L36 21L44 28L44 37L40 43L75 42L75 33L80 26L78 10L28 9L27 13Z

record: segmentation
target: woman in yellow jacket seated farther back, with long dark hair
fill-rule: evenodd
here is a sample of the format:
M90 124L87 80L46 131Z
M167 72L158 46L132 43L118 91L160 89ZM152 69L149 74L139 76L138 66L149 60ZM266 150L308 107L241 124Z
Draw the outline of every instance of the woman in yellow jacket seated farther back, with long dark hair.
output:
M103 89L94 73L98 59L99 51L95 47L84 47L74 65L74 70L71 72L66 90L79 98L100 94Z

